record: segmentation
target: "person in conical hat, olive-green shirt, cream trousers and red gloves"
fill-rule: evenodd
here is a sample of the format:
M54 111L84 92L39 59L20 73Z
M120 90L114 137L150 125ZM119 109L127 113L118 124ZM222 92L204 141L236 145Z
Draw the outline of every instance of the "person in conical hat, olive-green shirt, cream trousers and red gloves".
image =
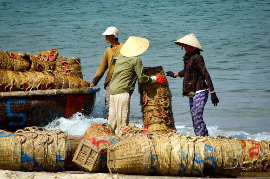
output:
M129 122L130 97L135 89L137 78L140 83L165 84L167 79L162 75L146 76L143 72L142 60L138 55L149 47L146 38L130 36L121 48L110 84L110 111L108 123L121 129Z

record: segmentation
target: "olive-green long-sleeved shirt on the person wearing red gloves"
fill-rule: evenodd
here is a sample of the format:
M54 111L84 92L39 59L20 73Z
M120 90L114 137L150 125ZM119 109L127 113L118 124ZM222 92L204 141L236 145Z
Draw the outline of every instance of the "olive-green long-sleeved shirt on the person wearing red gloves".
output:
M128 92L132 95L137 78L140 83L152 83L150 76L145 75L143 72L140 57L124 57L120 54L110 82L110 94L115 95Z

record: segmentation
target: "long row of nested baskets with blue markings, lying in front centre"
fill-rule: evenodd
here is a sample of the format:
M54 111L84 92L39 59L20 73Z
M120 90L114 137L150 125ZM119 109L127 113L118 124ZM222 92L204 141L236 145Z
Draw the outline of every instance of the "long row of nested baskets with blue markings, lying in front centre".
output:
M180 134L134 136L111 145L109 170L124 174L239 176L243 155L234 139Z

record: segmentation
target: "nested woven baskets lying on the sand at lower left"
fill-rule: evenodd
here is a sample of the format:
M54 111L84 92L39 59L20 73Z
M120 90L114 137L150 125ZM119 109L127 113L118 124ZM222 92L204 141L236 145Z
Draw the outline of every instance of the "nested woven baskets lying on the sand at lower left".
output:
M63 171L71 152L67 133L28 127L0 136L0 169Z

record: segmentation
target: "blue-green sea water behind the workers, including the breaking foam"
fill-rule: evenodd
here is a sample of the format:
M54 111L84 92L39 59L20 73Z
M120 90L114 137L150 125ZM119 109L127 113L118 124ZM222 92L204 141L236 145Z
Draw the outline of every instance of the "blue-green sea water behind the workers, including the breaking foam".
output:
M270 140L270 1L0 0L1 51L58 48L61 55L81 58L89 82L109 46L101 36L109 26L118 28L122 43L129 36L148 38L150 46L140 55L144 66L161 65L175 73L183 69L184 50L174 41L194 33L220 101L214 107L209 97L205 106L209 135ZM57 118L47 128L82 136L89 125L106 122L104 79L92 115ZM182 78L168 77L168 82L176 128L194 135ZM142 126L137 89L130 123Z

